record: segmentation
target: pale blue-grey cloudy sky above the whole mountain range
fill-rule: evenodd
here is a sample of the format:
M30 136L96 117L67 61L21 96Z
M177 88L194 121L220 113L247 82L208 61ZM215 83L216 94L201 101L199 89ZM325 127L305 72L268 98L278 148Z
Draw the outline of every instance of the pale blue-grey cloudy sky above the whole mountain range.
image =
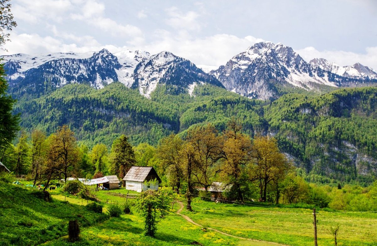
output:
M11 0L8 52L163 50L223 65L260 41L377 71L375 0Z

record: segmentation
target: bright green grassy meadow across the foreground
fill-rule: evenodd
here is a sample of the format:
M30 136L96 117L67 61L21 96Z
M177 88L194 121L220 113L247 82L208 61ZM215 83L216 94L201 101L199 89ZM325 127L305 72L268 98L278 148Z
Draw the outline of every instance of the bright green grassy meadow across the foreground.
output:
M14 184L0 183L0 245L250 245L272 246L276 243L306 246L313 245L313 214L308 209L259 207L237 204L214 203L195 198L195 211L183 210L202 226L193 225L176 214L180 208L175 204L172 213L157 225L156 237L143 235L143 218L132 208L132 214L120 218L106 216L106 202L125 202L124 189L95 192L104 205L104 214L85 209L86 200L76 196L64 196L58 190L51 191L52 202L45 202L28 190ZM66 201L64 201L64 199ZM180 198L183 200L183 198ZM82 205L81 205L82 204ZM80 238L76 243L67 241L67 222L78 219ZM318 244L334 245L329 232L331 226L340 226L338 245L377 245L376 213L317 212ZM209 228L218 229L248 241L223 235ZM268 243L275 242L275 243ZM199 244L199 245L200 245Z

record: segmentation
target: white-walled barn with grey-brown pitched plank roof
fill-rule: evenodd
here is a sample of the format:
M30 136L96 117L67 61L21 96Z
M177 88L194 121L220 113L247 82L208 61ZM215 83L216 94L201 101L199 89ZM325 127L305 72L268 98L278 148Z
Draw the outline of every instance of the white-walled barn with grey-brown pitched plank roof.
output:
M123 178L123 187L127 190L158 190L160 177L151 166L132 166Z

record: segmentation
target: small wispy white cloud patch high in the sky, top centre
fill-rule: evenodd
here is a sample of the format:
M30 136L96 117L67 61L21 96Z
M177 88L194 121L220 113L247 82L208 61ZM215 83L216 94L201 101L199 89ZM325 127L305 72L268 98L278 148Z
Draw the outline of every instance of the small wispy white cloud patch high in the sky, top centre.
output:
M173 27L174 29L184 29L190 31L201 30L201 23L197 20L199 14L194 11L188 11L183 13L176 7L171 7L166 9L166 13L170 18L166 19L166 24Z

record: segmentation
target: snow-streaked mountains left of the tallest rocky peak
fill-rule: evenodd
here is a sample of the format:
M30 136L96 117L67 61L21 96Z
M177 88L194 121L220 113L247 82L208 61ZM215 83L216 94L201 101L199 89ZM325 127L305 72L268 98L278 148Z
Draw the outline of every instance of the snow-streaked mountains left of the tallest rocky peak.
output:
M222 87L212 75L189 60L164 51L150 56L145 51L103 49L98 53L56 53L4 56L5 69L13 93L43 95L70 83L100 89L113 81L138 89L150 97L158 84L173 85L175 93L191 93L195 85L210 83Z

